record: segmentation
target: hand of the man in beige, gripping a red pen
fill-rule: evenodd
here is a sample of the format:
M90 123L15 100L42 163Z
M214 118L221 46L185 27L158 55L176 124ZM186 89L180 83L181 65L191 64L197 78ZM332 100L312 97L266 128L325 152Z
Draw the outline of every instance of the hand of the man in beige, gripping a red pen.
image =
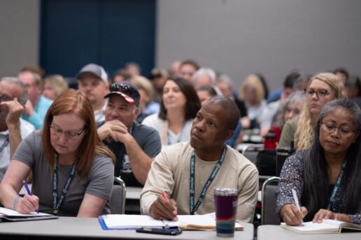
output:
M167 220L178 220L176 201L167 200L160 196L149 208L150 216L155 219L166 218Z

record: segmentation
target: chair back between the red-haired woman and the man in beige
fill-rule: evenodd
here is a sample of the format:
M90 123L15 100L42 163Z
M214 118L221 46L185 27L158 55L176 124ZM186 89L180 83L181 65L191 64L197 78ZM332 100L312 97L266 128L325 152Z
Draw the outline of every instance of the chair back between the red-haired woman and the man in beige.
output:
M122 181L120 177L114 177L113 191L111 193L111 199L109 200L112 214L125 213L125 192L124 181Z

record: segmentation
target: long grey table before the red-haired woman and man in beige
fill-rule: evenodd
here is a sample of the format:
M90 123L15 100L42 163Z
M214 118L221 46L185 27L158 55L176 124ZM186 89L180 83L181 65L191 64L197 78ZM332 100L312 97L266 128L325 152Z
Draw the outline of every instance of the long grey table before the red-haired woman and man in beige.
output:
M253 239L253 224L240 223L243 231L236 231L234 239ZM0 223L0 239L221 239L215 231L183 231L177 236L138 233L135 230L102 230L98 218L59 217Z

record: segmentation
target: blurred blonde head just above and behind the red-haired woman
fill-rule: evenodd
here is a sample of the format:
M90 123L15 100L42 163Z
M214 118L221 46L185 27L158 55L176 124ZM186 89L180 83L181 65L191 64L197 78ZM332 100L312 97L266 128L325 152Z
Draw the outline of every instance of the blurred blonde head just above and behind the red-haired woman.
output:
M69 89L68 82L62 75L49 75L44 78L43 96L55 100L57 96Z

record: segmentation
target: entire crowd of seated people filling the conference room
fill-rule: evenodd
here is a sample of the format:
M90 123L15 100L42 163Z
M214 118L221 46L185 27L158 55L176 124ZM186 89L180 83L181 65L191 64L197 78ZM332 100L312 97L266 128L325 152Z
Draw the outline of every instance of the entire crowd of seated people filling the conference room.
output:
M143 189L139 210L153 218L211 213L214 189L236 188L237 219L251 222L258 172L235 148L241 130L258 128L261 141L271 129L278 147L294 141L297 149L278 190L285 223L327 217L360 224L359 77L344 68L312 77L292 70L281 91L269 94L260 74L248 75L237 93L227 75L191 59L141 74L130 62L110 78L89 63L75 74L78 90L41 68L3 77L0 203L20 213L96 217L111 213L113 177L120 177ZM23 180L32 195L19 195Z

